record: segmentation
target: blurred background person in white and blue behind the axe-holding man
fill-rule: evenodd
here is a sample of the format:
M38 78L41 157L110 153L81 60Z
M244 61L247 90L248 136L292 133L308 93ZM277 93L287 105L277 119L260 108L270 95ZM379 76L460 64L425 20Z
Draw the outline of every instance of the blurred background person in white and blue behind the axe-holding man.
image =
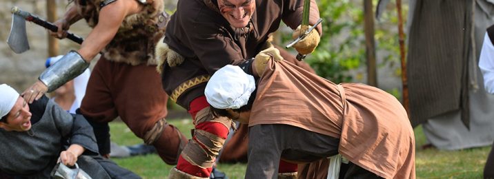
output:
M63 55L49 57L46 59L45 66L48 68L57 63L62 56ZM84 97L84 94L86 94L89 76L90 70L88 68L72 81L68 81L52 92L52 94L50 94L50 100L55 101L55 103L67 112L76 114L75 112L81 106L82 98ZM156 152L155 147L145 144L123 146L118 145L117 143L111 143L110 145L110 157L116 158L154 154Z

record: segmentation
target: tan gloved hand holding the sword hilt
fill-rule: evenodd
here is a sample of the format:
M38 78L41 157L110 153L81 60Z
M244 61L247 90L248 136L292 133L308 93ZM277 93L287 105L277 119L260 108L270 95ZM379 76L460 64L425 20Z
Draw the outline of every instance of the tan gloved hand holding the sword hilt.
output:
M299 34L300 34L300 25L293 32L292 38L297 39L299 37ZM293 47L295 48L295 50L297 50L297 52L299 52L299 54L310 54L314 52L320 40L321 40L321 36L319 36L317 30L312 30L309 32L309 34L307 34L306 38L295 43Z

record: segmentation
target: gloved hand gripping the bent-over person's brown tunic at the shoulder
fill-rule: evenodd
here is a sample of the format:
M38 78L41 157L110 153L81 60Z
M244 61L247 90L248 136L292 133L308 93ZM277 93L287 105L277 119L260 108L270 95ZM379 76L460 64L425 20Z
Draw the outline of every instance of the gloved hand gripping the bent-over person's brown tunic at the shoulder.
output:
M253 61L253 73L257 74L257 76L262 76L262 74L264 74L266 64L270 59L273 59L274 61L281 61L283 60L283 56L281 56L281 54L279 54L279 50L273 46L267 48L266 50L262 50L255 56Z

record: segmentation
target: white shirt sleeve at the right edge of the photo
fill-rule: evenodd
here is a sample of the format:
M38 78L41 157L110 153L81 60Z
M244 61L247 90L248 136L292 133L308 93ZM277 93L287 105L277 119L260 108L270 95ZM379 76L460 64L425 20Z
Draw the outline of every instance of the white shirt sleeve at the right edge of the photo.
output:
M484 75L484 88L486 92L494 94L494 45L487 33L484 35L479 67Z

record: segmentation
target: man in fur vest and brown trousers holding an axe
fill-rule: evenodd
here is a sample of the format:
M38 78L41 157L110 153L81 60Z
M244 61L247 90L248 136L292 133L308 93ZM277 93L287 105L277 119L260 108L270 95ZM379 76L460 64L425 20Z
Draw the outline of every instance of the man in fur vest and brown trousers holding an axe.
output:
M70 25L81 19L93 29L79 50L63 56L41 74L40 81L26 89L26 100L32 103L59 87L57 83L75 77L74 71L81 67L68 62L87 67L102 52L80 109L95 129L99 153L110 153L108 122L120 116L136 136L156 147L164 162L176 164L187 140L166 123L168 96L161 89L154 55L155 44L164 36L167 17L163 0L73 1L63 18L55 22L59 32L52 35L62 38Z

